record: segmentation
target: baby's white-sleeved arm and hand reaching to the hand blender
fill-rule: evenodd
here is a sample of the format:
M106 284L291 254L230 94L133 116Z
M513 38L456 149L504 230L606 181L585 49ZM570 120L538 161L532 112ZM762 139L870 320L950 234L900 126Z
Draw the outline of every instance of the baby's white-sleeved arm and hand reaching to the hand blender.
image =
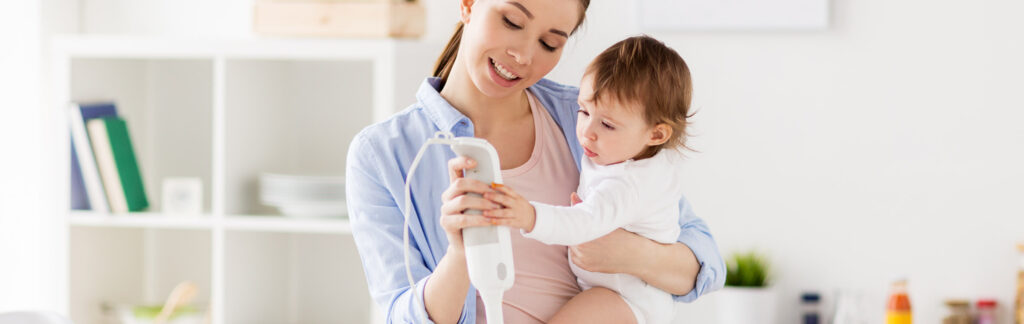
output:
M526 201L509 188L484 198L505 208L484 212L493 224L523 230L523 236L548 244L574 245L589 242L632 222L638 215L637 191L629 183L605 179L587 201L572 207Z

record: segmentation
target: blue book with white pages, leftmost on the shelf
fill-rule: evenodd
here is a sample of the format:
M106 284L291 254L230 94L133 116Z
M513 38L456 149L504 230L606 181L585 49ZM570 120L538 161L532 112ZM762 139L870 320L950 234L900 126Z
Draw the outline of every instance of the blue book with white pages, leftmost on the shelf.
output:
M108 212L110 207L99 170L96 168L92 154L92 144L85 130L88 120L116 117L117 108L113 103L71 104L68 108L68 121L72 135L72 208L92 209L97 212ZM76 165L78 170L76 172ZM81 184L81 186L77 185ZM83 201L88 201L86 207Z

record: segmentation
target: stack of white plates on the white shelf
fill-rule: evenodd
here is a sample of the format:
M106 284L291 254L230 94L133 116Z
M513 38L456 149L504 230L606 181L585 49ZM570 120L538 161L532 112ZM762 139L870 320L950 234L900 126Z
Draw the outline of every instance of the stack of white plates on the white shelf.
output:
M345 178L263 173L259 176L260 201L293 217L344 217Z

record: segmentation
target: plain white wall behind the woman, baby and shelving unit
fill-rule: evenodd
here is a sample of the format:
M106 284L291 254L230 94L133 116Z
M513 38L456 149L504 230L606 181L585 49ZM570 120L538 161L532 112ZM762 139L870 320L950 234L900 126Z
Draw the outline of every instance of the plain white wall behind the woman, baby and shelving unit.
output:
M423 5L421 41L445 42L458 2ZM1024 241L1024 2L828 5L820 30L654 31L632 1L594 1L549 77L578 84L591 57L640 33L679 51L697 109L688 198L723 255L768 257L779 323L799 321L805 291L825 305L856 295L881 322L896 276L919 323L940 322L947 298L994 298L1010 323ZM52 256L66 212L45 186L62 165L45 150L58 141L43 105L51 38L251 38L252 14L243 0L0 4L0 311L67 306ZM715 294L681 305L679 322L715 322L716 307Z

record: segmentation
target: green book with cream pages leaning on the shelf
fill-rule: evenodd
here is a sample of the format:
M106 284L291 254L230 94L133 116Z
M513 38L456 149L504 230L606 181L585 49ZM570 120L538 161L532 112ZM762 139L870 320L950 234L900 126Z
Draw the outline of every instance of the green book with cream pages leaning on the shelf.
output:
M92 151L111 212L141 211L150 206L128 125L119 117L86 122Z

